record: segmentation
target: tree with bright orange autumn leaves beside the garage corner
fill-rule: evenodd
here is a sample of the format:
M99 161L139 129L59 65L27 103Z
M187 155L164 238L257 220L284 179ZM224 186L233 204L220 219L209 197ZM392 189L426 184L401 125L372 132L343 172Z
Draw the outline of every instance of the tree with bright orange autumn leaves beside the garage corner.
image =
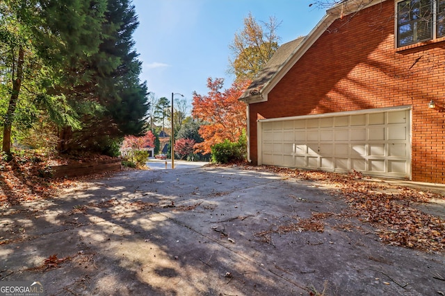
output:
M204 122L198 131L204 141L195 144L196 153L211 153L211 146L225 139L238 141L245 132L245 103L238 98L250 85L250 80L234 82L232 87L221 92L223 85L223 78L207 78L207 96L193 93L193 118Z

